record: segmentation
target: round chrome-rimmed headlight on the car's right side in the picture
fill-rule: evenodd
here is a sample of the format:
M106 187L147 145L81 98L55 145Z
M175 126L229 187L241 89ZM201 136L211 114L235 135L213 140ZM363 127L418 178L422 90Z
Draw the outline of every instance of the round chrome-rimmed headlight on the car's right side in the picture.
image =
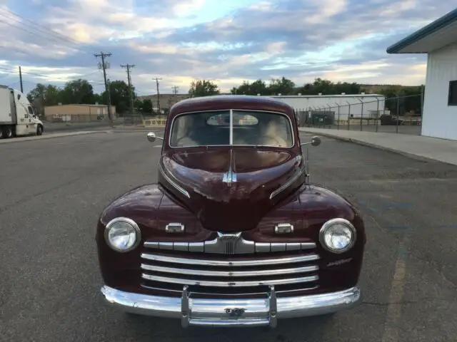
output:
M329 252L343 253L356 242L356 229L347 219L330 219L323 224L319 239Z

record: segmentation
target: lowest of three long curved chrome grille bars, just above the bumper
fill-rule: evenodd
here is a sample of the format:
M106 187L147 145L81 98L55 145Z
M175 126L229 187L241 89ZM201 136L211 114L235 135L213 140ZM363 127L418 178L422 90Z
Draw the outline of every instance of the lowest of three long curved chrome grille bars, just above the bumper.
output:
M264 286L264 285L283 285L307 283L318 280L318 276L301 276L298 278L289 279L274 279L264 281L209 281L209 280L191 280L179 279L166 276L155 276L151 274L142 274L143 279L152 281L162 281L172 284L200 285L200 286L215 286L215 287L247 287L247 286Z

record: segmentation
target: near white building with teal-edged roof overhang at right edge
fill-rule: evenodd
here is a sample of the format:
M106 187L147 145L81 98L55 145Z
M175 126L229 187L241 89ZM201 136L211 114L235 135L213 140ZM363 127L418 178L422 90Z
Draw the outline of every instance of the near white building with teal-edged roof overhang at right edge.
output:
M457 9L387 48L427 53L422 135L457 140Z

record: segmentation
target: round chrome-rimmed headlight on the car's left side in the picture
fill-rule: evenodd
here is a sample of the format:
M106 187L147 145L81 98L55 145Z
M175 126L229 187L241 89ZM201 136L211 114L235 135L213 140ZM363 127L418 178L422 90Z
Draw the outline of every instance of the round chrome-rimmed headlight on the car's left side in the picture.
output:
M141 240L140 229L133 219L116 217L106 224L105 239L116 252L129 252Z

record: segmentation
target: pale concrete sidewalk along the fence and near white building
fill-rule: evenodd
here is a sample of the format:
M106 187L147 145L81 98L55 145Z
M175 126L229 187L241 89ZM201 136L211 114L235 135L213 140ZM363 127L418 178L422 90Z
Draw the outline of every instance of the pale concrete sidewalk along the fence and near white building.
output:
M301 132L335 138L406 155L457 165L457 141L394 133L373 133L325 128L298 128Z

